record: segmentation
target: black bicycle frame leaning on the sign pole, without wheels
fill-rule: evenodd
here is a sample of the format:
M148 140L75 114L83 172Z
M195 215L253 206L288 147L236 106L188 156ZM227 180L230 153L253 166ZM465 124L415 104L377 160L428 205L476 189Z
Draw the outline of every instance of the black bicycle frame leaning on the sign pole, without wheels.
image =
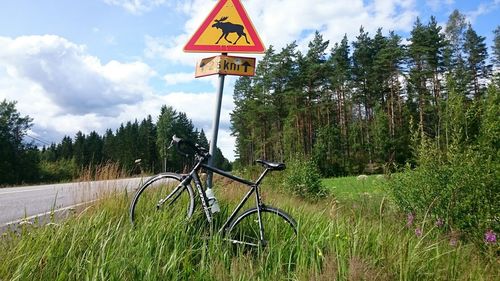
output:
M198 176L198 171L200 170L200 168L204 168L205 170L214 172L214 173L219 174L219 175L221 175L223 177L232 179L234 181L237 181L239 183L242 183L242 184L250 187L250 190L245 194L245 196L243 197L243 199L240 201L240 203L238 204L238 206L236 206L236 208L233 210L233 212L231 213L231 215L229 216L229 218L226 220L226 222L224 223L224 225L222 225L222 227L219 229L219 233L223 232L228 227L229 223L231 223L231 221L233 221L233 219L236 217L236 215L241 210L241 208L243 207L243 205L245 205L245 203L248 201L248 199L250 198L250 196L252 196L252 194L255 192L255 194L256 194L256 196L255 196L255 200L256 200L255 203L256 203L257 212L258 212L259 228L260 228L259 229L260 230L260 238L263 241L264 240L264 227L263 227L263 224L262 224L261 212L260 212L260 209L262 207L262 198L261 198L260 192L259 192L259 184L264 179L264 177L266 176L266 174L270 171L270 169L266 168L264 170L264 172L262 172L262 174L259 176L259 178L257 179L256 182L251 182L251 181L248 181L246 179L242 179L240 177L234 176L234 175L232 175L232 174L230 174L230 173L228 173L226 171L217 169L217 168L212 167L212 166L208 166L207 164L204 164L201 161L198 162L195 165L195 167L193 168L193 170L189 173L189 175L186 176L186 178L184 178L182 180L181 184L188 184L191 180L194 181L194 183L196 185L196 189L198 190L198 193L200 195L200 198L202 198L201 199L201 203L203 205L203 210L205 211L205 215L207 217L208 222L212 221L212 213L210 212L209 202L208 202L208 198L207 198L207 196L205 194L205 190L203 189L203 184L201 182L200 177Z

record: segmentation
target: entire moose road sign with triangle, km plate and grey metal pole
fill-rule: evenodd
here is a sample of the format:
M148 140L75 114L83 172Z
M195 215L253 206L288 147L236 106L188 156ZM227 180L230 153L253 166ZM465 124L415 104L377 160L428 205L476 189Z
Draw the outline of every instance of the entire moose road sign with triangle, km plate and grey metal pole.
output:
M255 59L245 57L229 57L227 53L264 53L265 47L259 38L241 0L219 0L214 9L194 35L184 46L185 52L222 53L221 56L203 59L197 63L195 77L219 74L219 89L215 102L212 140L208 164L213 166L217 152L222 94L226 75L253 76ZM218 212L217 200L212 191L213 174L207 175L207 198L212 212Z

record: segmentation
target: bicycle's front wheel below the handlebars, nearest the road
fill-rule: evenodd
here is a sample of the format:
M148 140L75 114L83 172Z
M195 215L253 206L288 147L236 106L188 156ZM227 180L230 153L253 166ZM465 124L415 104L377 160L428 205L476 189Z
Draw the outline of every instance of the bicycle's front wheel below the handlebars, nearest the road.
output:
M169 206L169 215L185 208L186 218L190 218L195 207L194 193L191 185L181 185L181 182L182 176L174 173L162 173L150 178L136 191L132 199L129 209L130 222L137 225L147 220L166 219L158 217L158 211L166 206ZM167 198L168 200L165 200ZM162 199L165 201L159 206Z

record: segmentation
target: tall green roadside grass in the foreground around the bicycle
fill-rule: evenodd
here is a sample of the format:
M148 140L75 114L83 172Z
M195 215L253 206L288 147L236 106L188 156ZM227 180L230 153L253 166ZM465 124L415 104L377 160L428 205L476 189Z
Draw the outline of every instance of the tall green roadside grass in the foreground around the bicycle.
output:
M26 225L0 239L0 280L495 280L499 261L472 244L450 245L430 222L405 226L383 180L328 179L333 196L310 202L263 190L299 223L295 243L249 250L210 235L203 214L159 216L135 229L130 194L99 201L64 222ZM373 185L372 185L373 184ZM221 217L245 188L223 185ZM199 206L198 206L199 207ZM215 227L221 224L216 220ZM276 238L276 237L271 237Z

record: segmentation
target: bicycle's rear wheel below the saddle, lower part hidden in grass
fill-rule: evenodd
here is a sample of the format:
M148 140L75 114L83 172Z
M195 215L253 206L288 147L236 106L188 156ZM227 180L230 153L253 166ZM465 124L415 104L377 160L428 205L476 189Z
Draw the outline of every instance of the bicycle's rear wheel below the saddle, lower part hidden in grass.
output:
M271 206L260 208L264 228L264 241L260 239L258 209L251 208L236 217L226 231L227 240L248 246L276 246L294 243L297 222L283 210Z

